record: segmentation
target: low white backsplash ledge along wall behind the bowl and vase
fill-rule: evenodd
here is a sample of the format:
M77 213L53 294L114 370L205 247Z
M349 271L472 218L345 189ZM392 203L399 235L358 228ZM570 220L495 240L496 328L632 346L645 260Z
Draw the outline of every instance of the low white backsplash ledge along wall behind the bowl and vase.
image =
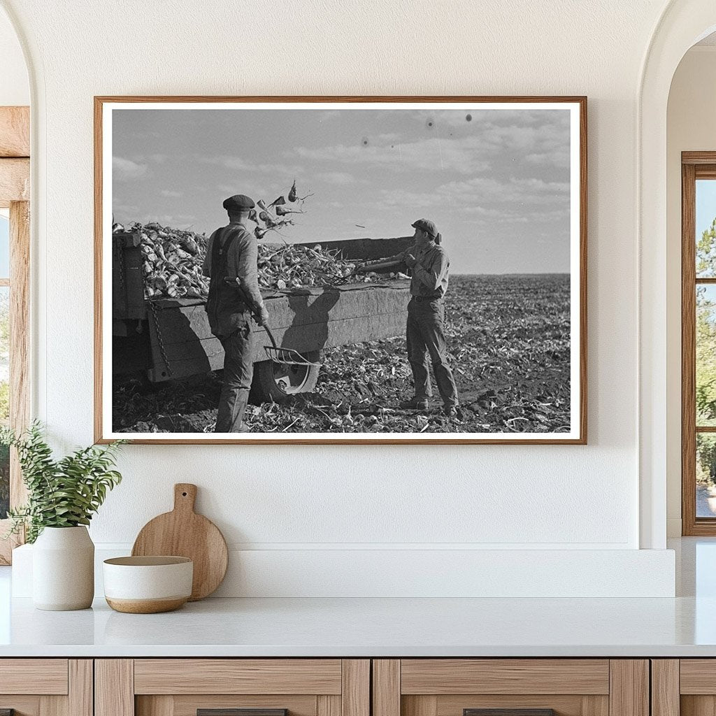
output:
M130 546L95 552L102 561ZM624 576L629 578L625 579ZM32 596L32 545L14 552L14 597ZM232 550L218 597L673 597L673 550Z

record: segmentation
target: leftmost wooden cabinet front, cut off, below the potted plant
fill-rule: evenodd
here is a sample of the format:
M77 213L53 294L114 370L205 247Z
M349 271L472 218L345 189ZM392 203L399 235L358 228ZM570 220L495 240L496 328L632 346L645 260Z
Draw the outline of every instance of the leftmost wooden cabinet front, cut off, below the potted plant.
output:
M0 659L3 716L92 716L92 659Z

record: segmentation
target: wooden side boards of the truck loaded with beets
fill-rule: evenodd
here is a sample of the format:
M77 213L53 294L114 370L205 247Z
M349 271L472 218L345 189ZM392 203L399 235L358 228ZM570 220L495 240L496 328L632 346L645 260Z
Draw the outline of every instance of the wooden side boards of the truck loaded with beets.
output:
M381 258L410 246L411 237L321 243L344 258ZM311 244L313 245L313 244ZM339 246L340 245L340 246ZM221 342L211 334L203 299L144 299L137 238L115 241L113 372L145 370L152 382L188 377L223 367ZM269 326L279 347L302 354L402 334L409 281L262 291ZM254 362L267 359L266 332L254 326Z

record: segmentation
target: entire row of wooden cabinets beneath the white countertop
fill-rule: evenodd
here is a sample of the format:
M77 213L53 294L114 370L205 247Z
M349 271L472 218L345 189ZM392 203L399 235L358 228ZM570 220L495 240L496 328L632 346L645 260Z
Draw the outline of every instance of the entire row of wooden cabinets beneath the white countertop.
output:
M716 659L0 659L0 716L8 716L4 710L14 716L714 716Z

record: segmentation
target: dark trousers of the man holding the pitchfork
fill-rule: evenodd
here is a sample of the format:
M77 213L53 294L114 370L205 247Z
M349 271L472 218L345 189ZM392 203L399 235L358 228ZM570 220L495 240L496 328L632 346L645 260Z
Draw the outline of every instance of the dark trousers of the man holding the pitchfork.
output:
M248 319L228 336L219 336L224 370L214 432L240 432L253 378L253 333Z

